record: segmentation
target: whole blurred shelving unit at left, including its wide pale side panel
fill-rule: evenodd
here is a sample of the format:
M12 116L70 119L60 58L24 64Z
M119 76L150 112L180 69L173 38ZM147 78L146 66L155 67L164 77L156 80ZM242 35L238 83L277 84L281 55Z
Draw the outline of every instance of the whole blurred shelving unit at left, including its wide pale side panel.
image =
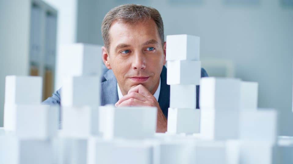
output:
M52 95L55 78L57 10L41 0L0 1L0 20L1 127L5 76L41 76L43 99Z

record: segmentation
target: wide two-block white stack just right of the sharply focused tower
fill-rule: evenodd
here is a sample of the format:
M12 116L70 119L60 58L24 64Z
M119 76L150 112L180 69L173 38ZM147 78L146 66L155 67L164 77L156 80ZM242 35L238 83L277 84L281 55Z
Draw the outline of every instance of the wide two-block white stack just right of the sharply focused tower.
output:
M237 139L240 117L239 79L201 79L201 136L210 140Z

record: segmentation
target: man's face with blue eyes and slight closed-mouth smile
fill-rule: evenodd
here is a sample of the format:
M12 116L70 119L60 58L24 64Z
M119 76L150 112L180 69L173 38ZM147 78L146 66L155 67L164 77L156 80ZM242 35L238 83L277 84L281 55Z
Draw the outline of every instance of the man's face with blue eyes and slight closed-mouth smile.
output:
M109 52L103 48L103 60L113 70L122 94L139 84L154 94L166 63L165 46L162 47L154 20L134 25L115 21L109 34L110 48Z

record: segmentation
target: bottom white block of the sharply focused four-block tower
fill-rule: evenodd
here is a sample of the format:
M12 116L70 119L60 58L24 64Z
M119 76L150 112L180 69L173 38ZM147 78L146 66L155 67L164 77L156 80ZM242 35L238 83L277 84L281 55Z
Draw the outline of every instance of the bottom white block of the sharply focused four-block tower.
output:
M199 133L201 111L199 109L169 108L168 133Z

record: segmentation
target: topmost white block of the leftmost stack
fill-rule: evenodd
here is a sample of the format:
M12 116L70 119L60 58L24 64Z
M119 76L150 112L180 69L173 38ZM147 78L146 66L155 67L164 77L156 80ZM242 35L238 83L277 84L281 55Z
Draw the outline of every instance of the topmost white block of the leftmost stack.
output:
M6 76L5 104L40 104L42 77Z

